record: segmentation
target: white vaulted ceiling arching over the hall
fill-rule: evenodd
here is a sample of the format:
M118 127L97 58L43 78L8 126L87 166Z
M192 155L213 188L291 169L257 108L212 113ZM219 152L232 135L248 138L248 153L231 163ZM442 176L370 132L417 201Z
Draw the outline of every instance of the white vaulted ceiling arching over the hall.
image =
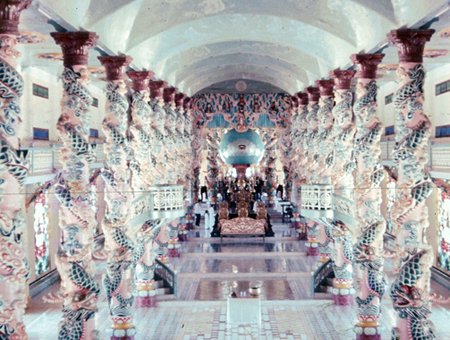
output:
M294 93L446 0L37 0L187 95L232 79ZM55 51L58 48L55 47Z

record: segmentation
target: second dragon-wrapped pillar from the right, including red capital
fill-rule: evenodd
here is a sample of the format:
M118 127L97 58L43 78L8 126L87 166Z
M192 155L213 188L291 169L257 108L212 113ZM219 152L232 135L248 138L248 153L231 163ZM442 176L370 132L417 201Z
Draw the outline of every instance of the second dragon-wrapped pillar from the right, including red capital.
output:
M383 54L356 54L355 176L356 205L359 207L358 239L354 257L359 278L357 339L380 339L380 303L385 291L383 274L383 234L386 223L381 214L380 183L384 172L380 165L382 125L377 117L376 71Z

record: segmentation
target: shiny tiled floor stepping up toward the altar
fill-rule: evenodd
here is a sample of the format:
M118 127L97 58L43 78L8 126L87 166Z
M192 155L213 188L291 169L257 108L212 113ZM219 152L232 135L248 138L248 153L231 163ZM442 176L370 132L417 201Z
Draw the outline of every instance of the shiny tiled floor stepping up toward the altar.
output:
M220 239L208 236L209 231L195 230L182 244L181 258L171 259L178 301L135 310L136 340L353 339L355 308L334 306L326 295L311 299L310 273L317 259L305 256L304 242L290 236L288 226L274 223L276 237L266 238L265 244L256 238L225 239L220 244ZM262 290L261 326L228 324L227 296L231 291L247 292L253 285ZM448 296L448 289L432 287ZM383 339L388 339L395 314L387 295L384 302ZM448 307L433 309L438 339L450 339ZM59 318L58 306L34 298L25 319L30 339L56 339ZM103 295L96 325L98 339L108 339L110 321Z

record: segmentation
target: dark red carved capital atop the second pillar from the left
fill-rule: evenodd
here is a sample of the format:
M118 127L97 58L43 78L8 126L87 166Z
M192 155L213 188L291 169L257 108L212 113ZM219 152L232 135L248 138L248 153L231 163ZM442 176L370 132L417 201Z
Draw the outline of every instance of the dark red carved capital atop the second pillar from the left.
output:
M50 35L61 46L65 67L87 65L88 50L98 40L94 32L52 32Z

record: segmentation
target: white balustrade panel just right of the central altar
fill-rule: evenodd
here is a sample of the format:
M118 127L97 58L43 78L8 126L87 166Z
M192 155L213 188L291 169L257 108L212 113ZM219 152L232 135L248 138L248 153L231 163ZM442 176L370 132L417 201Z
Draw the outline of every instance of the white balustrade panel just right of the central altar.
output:
M311 219L333 217L333 186L325 184L302 185L300 189L301 214Z

